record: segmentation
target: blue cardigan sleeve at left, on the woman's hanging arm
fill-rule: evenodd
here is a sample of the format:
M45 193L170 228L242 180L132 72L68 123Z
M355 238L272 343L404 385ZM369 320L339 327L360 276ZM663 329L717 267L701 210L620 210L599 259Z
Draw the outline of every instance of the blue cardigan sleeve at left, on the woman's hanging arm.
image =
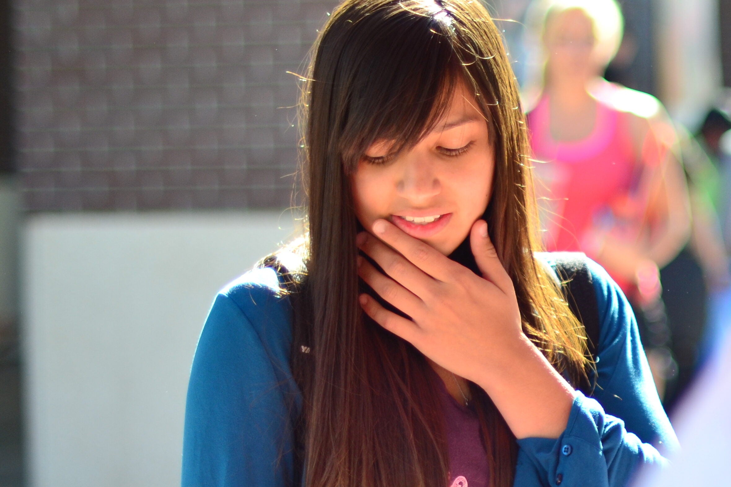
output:
M235 300L219 293L190 374L183 487L292 485L291 417L277 382L259 330Z

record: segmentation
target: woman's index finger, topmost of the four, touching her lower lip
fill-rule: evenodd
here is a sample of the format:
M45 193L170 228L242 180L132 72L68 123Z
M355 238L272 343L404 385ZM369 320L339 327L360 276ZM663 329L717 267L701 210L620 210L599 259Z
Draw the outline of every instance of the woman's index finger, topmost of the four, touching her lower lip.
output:
M414 238L395 224L385 219L377 219L372 230L376 237L401 253L409 262L434 279L446 282L455 273L458 265L427 243Z

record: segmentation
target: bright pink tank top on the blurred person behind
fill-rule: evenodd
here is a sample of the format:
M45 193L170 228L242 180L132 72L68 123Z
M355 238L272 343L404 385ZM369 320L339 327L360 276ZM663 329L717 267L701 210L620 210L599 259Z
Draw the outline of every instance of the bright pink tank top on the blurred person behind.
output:
M592 255L589 230L616 224L639 181L628 113L596 103L594 130L571 142L550 135L548 96L528 114L535 159L536 196L549 252L581 251ZM629 292L632 285L612 276Z

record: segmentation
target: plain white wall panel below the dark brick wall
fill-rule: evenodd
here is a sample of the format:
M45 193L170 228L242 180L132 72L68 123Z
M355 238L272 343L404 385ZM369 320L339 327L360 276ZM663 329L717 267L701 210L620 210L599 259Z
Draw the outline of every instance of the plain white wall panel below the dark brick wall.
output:
M292 228L279 211L27 219L29 485L179 485L187 380L208 309Z

